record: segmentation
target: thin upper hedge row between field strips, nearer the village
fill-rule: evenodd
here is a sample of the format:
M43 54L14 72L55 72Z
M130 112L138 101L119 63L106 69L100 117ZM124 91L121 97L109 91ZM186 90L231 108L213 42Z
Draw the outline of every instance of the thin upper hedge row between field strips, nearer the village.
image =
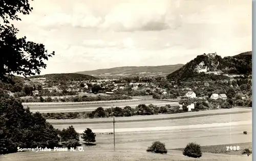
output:
M92 102L92 101L114 101L114 100L132 100L129 96L120 95L108 95L108 96L75 96L75 97L64 97L64 98L24 98L22 102Z

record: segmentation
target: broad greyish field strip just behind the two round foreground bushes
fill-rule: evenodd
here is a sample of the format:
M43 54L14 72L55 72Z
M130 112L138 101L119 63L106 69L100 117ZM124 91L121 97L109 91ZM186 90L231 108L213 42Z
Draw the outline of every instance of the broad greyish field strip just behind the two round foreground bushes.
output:
M247 130L247 135L243 134L244 130ZM211 140L211 138L215 140ZM248 143L252 140L252 128L251 125L233 125L231 128L228 126L220 126L163 131L120 132L116 133L115 140L116 144L136 144L137 146L134 148L139 149L140 147L143 149L144 147L149 146L153 141L171 143L166 144L167 149L184 148L186 144L184 143L184 145L180 145L178 141L185 142L186 140L190 140L190 142L200 142L200 145L202 146ZM202 140L205 141L205 143ZM113 146L113 134L98 134L96 136L96 141L97 145L102 145L104 147L108 147L108 145ZM146 142L148 142L148 145L141 145Z

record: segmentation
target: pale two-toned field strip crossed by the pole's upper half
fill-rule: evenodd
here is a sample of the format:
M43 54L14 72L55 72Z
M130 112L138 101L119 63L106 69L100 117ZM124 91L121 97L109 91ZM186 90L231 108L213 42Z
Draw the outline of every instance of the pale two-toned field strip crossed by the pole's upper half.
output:
M145 121L145 122L121 122L115 124L116 132L133 132L133 131L155 131L155 130L173 130L179 128L207 128L219 126L232 125L248 125L251 124L251 113L226 114L219 116L207 116L188 119L176 120L159 120L159 121ZM113 132L113 123L101 124L62 124L54 125L55 128L66 128L73 125L75 129L82 132L86 128L91 128L95 132Z

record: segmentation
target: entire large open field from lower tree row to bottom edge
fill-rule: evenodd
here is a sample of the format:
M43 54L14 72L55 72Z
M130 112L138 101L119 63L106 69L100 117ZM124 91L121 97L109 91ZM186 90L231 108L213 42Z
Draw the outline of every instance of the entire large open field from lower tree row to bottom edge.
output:
M251 112L225 114L219 116L207 116L197 118L186 118L176 120L160 120L147 122L116 123L116 151L113 149L113 134L97 133L96 145L91 147L83 146L84 151L76 152L23 152L0 156L0 160L220 160L220 161L246 161L252 156L240 155L238 153L208 153L214 148L223 148L225 145L250 146L252 140ZM212 126L214 125L214 126ZM56 128L63 128L69 125L54 125ZM94 132L105 129L113 130L113 124L82 124L74 125L78 132L87 127ZM158 127L171 127L169 130L151 130ZM118 129L148 128L146 131ZM243 134L247 131L247 135ZM80 140L82 142L82 140ZM168 153L153 154L147 153L146 149L153 141L165 143ZM182 155L181 148L187 143L196 142L204 147L205 153L199 159ZM241 144L244 143L244 144ZM224 147L225 147L224 146ZM179 149L177 149L179 148ZM176 149L176 150L172 150Z

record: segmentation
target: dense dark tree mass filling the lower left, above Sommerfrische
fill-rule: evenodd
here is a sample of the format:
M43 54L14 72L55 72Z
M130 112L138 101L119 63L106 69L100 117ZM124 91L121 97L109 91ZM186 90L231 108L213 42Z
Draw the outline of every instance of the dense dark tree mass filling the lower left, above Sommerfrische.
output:
M0 154L20 148L57 147L58 131L39 112L24 109L19 99L0 90Z

